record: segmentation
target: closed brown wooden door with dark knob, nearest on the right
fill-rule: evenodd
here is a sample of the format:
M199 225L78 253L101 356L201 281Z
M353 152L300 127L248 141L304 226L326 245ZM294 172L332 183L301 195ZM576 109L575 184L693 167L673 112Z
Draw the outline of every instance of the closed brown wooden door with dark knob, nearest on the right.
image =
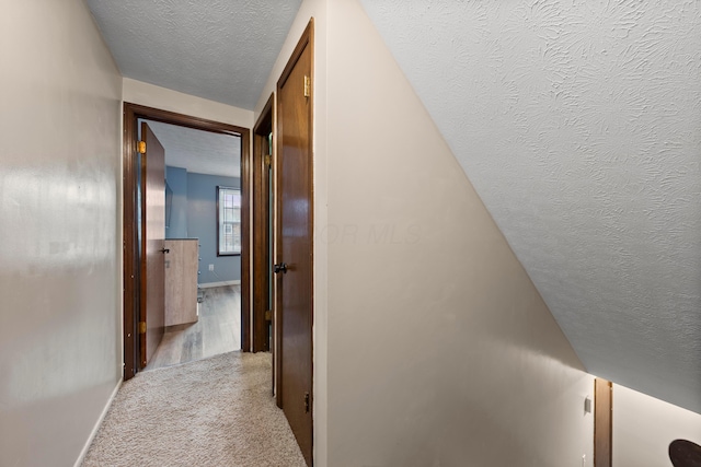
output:
M277 83L277 401L312 464L312 27Z

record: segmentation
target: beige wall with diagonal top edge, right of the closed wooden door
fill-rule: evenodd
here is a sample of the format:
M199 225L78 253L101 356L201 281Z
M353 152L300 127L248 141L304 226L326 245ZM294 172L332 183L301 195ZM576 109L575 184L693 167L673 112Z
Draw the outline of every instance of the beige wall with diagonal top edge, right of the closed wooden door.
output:
M358 2L327 13L321 465L590 463L593 377Z

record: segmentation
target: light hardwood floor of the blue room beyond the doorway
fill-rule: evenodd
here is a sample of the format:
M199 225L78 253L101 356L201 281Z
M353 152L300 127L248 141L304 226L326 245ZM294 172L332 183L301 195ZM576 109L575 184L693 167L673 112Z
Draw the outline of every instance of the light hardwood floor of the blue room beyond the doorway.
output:
M197 323L165 328L145 371L241 349L240 285L203 289L203 293Z

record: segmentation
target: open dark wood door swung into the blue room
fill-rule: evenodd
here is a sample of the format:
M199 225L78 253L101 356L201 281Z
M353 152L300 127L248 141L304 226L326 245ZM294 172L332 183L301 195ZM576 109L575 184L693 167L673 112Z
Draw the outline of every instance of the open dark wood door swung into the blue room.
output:
M139 350L142 369L161 343L165 325L165 150L146 122L141 122L141 141L146 142L146 154L141 154Z

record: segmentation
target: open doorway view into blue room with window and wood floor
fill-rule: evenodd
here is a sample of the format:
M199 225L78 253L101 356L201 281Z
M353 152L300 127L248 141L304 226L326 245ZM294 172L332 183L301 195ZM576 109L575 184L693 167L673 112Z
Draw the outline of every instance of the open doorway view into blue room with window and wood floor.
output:
M138 128L146 124L164 150L160 178L165 178L164 194L156 194L158 200L165 200L160 218L165 227L164 253L158 255L164 264L165 328L143 370L240 350L241 137L138 121ZM147 220L153 208L159 207L143 211ZM147 221L147 233L148 229ZM151 303L148 289L147 284ZM152 320L151 314L147 318ZM149 328L147 323L147 332Z

